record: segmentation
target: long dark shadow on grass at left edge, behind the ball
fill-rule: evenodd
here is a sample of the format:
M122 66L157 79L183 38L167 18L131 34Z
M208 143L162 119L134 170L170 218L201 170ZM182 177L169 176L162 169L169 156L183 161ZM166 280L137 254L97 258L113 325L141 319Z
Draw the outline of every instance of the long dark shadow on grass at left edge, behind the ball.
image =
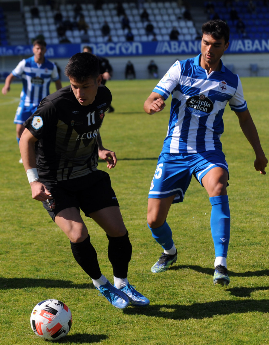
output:
M93 289L93 284L74 284L71 280L45 278L4 278L0 277L0 289L23 289L26 287L59 287Z

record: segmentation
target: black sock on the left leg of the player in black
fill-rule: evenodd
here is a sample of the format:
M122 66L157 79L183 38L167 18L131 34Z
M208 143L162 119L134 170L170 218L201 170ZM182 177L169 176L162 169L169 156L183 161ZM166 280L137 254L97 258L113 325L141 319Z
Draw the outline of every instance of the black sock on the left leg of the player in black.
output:
M80 243L71 242L71 250L79 266L92 278L99 279L102 275L97 253L91 244L90 235Z

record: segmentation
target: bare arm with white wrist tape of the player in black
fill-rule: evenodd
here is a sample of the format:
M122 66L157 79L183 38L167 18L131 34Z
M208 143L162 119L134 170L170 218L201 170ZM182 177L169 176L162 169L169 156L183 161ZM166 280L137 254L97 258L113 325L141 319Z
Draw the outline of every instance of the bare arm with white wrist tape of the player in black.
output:
M31 132L26 128L20 138L20 152L24 169L32 189L32 198L39 201L52 199L50 191L38 180L36 170L36 153L34 144L37 141Z

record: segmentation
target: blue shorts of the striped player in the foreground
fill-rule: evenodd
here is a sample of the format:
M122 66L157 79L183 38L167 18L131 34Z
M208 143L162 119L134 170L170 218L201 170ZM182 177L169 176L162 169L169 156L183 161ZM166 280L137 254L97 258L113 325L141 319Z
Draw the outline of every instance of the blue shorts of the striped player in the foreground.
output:
M202 185L202 178L216 167L225 169L229 175L225 155L219 150L196 154L161 153L151 181L149 198L167 198L176 194L173 204L182 202L192 175Z

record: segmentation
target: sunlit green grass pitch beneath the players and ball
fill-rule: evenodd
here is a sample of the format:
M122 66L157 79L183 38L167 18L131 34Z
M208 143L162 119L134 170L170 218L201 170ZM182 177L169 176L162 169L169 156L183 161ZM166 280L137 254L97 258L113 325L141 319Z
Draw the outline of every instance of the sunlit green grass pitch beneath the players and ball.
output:
M267 157L268 81L242 78ZM269 344L268 176L255 171L253 150L229 106L222 144L230 170L230 285L213 286L211 205L195 179L184 202L172 205L168 216L178 261L165 273L150 271L161 250L147 227L147 195L166 135L171 99L163 112L145 114L143 103L155 85L156 80L107 83L115 112L106 114L101 137L104 147L116 152L118 162L111 171L100 162L99 169L110 174L130 234L129 282L150 299L148 307L129 306L124 311L98 296L74 261L68 238L41 203L32 200L26 173L18 163L13 124L21 83L12 83L8 95L0 95L0 344L42 344L31 330L30 314L48 298L65 302L73 315L71 331L56 344ZM91 219L83 219L102 273L112 280L105 233Z

